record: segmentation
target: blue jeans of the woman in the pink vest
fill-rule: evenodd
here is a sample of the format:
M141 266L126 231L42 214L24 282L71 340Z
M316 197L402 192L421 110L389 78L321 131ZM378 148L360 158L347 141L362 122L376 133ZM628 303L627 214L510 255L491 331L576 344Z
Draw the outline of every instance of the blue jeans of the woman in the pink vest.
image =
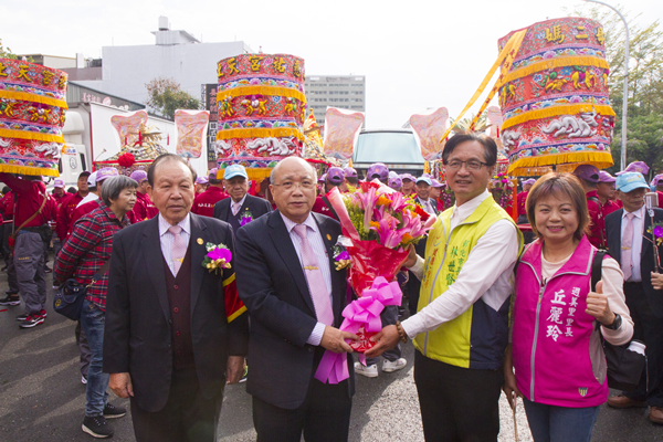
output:
M523 398L535 442L589 442L599 407L570 408L532 402Z

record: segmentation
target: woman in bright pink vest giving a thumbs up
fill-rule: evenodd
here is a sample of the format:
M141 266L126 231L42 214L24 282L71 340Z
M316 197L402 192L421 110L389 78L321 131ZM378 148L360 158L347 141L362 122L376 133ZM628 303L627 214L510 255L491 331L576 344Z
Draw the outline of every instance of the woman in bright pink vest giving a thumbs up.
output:
M594 324L614 345L633 335L623 275L617 261L606 257L591 291L597 249L586 235L585 191L572 175L541 177L526 208L538 239L517 265L504 391L512 407L514 396L523 397L536 442L586 442L599 406L608 400L606 357Z

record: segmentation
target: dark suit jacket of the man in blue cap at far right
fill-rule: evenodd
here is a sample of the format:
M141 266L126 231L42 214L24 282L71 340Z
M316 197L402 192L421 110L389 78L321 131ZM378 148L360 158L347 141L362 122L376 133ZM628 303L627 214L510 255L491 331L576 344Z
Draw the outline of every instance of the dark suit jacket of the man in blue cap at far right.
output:
M608 251L610 256L614 257L621 265L621 222L623 209L617 210L606 217L606 236L608 239ZM663 210L654 209L654 222L663 221ZM651 240L652 234L646 230L651 225L649 214L644 217L644 236ZM659 248L659 255L663 254L663 248ZM654 315L663 318L663 291L654 290L652 286L651 272L654 271L654 252L652 243L642 239L642 252L640 254L640 274L642 276L642 287L650 307Z

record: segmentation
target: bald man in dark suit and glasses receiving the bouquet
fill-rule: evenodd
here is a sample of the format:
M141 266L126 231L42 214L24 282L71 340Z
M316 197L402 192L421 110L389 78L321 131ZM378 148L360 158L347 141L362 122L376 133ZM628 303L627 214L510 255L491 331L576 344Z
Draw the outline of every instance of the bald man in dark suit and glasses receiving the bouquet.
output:
M340 332L347 274L336 271L333 246L340 225L312 213L315 170L287 158L272 171L278 210L236 232L240 298L251 315L246 391L253 396L257 441L346 441L354 393L350 377L337 385L314 378L325 349L351 352Z

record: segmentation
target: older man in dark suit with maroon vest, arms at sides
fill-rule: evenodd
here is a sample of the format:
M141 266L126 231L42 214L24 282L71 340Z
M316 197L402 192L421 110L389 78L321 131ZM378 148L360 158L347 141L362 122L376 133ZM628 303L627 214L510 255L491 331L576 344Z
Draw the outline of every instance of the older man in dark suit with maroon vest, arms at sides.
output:
M196 172L167 154L148 171L159 214L116 234L104 371L131 398L138 442L217 441L223 387L244 369L249 327L234 263L204 269L207 244L233 251L228 223L190 213Z

